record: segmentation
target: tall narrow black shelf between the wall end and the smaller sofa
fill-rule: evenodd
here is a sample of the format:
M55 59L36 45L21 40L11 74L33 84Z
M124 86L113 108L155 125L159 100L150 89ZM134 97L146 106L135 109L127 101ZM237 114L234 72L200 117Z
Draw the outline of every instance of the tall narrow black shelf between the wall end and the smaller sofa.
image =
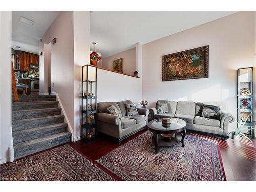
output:
M95 74L93 74L95 73ZM81 101L81 135L82 140L90 141L96 137L96 113L97 113L97 68L92 65L82 66L82 101ZM86 95L84 95L86 91ZM89 93L94 93L89 96ZM85 104L85 105L84 105ZM88 106L91 106L89 109ZM90 122L89 116L93 115L94 119Z

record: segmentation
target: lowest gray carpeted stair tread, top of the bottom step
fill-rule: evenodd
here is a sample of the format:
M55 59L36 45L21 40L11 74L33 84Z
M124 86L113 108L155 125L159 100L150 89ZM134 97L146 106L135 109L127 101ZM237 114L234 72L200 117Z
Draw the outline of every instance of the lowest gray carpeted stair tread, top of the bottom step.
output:
M25 142L21 142L21 143L16 143L13 145L14 147L14 150L16 150L17 148L24 148L26 146L29 146L29 145L33 145L33 144L37 144L37 143L40 143L40 142L49 142L51 140L56 140L57 138L65 138L65 137L69 137L71 136L71 133L66 131L66 132L61 132L61 133L57 133L57 134L53 134L53 135L50 135L50 136L46 136L46 137L41 137L41 138L38 138L38 139L33 139L33 140L30 140L30 141L25 141Z

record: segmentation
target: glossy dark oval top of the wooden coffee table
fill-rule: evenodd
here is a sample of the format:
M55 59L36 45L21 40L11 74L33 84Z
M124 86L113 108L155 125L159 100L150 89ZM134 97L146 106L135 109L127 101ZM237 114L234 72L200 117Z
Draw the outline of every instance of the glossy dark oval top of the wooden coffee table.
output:
M171 118L170 122L172 123L172 124L170 124L170 127L164 127L162 125L162 118L154 119L154 120L148 122L147 127L149 127L152 130L156 130L156 131L175 131L175 130L182 129L187 124L186 121L184 121L182 119L178 119L178 118Z

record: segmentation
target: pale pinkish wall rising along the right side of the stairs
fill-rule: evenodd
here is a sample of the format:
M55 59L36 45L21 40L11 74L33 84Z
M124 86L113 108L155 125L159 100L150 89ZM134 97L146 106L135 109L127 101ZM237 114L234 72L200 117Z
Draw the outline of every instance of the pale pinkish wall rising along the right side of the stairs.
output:
M74 30L73 12L63 11L57 16L47 32L42 37L39 50L44 51L44 44L51 43L51 91L58 96L65 108L67 117L74 127ZM44 53L45 54L45 53ZM40 57L40 71L44 66L44 57ZM40 81L41 79L40 74ZM40 90L41 92L41 90ZM48 92L48 91L47 91ZM73 129L73 128L72 128Z

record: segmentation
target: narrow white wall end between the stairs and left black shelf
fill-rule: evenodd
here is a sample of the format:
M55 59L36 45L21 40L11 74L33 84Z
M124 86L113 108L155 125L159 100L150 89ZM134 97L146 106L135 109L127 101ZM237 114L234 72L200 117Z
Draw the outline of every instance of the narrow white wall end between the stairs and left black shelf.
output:
M90 12L74 11L74 137L81 136L81 76L90 63Z

